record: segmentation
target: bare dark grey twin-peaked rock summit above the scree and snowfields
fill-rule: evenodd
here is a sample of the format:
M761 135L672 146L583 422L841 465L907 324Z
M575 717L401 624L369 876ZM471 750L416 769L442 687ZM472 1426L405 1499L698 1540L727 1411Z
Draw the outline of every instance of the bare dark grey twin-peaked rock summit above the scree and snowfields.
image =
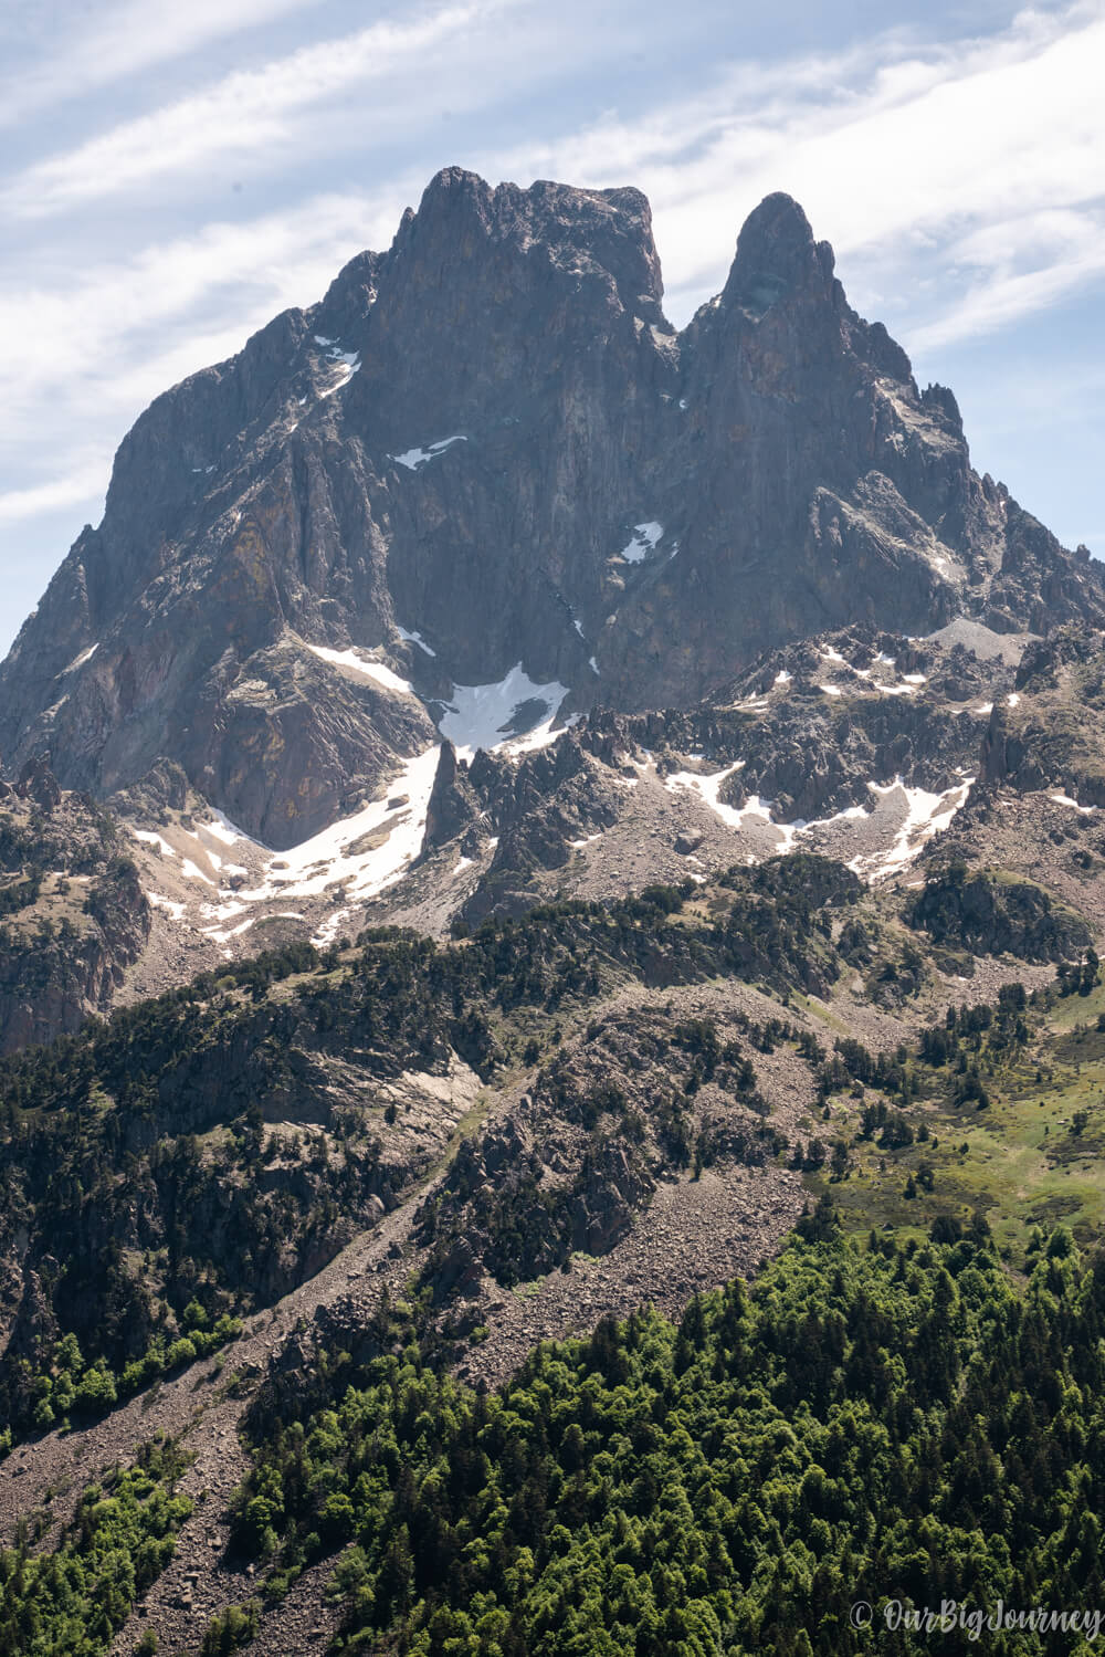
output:
M789 197L683 333L661 295L639 192L441 172L386 254L136 423L0 669L5 769L109 794L166 757L287 847L434 739L308 645L426 699L522 661L565 711L638 711L852 621L1105 620Z

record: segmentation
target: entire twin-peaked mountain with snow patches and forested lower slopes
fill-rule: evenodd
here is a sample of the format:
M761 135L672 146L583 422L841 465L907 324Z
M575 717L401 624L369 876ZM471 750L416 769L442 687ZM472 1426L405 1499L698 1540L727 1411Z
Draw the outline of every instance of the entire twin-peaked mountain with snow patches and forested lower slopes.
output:
M439 174L0 669L5 1654L1095 1604L1102 572L789 197L661 300Z

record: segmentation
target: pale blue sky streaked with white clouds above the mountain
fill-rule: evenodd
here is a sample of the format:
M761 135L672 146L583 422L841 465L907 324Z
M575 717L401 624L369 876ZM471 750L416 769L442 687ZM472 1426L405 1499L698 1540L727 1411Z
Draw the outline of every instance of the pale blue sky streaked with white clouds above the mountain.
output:
M1105 557L1105 0L5 0L0 651L146 404L388 247L442 166L635 184L678 325L770 191Z

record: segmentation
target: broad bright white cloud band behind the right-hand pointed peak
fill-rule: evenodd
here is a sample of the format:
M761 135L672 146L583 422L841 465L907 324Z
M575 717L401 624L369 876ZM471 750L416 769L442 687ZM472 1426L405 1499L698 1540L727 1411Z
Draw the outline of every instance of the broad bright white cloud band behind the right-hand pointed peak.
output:
M905 277L908 320L934 343L1100 275L1102 61L1100 0L1025 12L997 36L944 46L888 33L845 53L724 68L692 98L525 146L510 164L638 182L678 316L722 282L747 210L790 191L900 315Z

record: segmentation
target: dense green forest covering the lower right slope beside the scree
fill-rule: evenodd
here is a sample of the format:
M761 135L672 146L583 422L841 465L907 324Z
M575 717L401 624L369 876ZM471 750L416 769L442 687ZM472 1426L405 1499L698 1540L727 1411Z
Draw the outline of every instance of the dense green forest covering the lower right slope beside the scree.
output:
M981 1223L863 1243L822 1203L800 1233L490 1397L414 1344L331 1369L262 1428L239 1549L277 1592L340 1554L348 1657L838 1657L886 1649L856 1601L1098 1604L1102 1264L1057 1231L1017 1292Z

